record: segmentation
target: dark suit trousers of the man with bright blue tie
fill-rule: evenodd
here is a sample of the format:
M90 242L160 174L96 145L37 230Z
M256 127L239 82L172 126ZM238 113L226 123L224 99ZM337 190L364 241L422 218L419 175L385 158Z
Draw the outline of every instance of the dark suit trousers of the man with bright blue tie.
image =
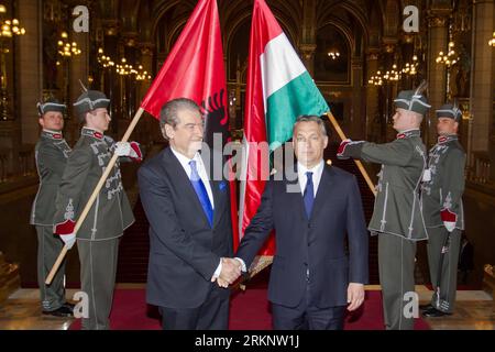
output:
M217 284L215 284L217 286ZM163 330L227 330L229 292L213 287L197 308L160 307Z

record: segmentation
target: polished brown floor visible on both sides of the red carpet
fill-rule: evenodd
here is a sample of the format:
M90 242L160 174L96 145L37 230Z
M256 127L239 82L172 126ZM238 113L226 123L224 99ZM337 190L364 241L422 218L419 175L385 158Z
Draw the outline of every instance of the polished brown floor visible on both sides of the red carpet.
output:
M118 288L144 288L143 285L119 284ZM380 286L366 286L369 290ZM76 289L67 290L67 298ZM417 286L420 304L428 302L432 292ZM37 289L19 289L0 305L0 330L67 330L74 318L44 316L38 304ZM495 330L495 302L481 290L460 290L455 314L441 318L426 318L433 330Z

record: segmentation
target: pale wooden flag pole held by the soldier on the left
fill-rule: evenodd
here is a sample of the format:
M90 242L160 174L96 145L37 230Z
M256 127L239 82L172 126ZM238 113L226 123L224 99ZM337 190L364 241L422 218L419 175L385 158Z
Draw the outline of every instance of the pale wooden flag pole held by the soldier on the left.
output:
M134 131L135 125L141 119L141 116L143 114L144 109L140 108L136 113L134 114L134 118L132 119L131 123L128 127L128 130L125 131L124 135L122 136L121 142L127 142L129 138L131 136L131 133ZM91 196L88 199L88 202L86 204L86 207L84 208L82 212L80 213L79 218L77 219L76 226L74 227L74 234L79 231L82 222L85 221L86 217L88 216L89 210L92 207L92 204L95 202L98 194L100 193L101 187L103 187L105 182L107 180L108 176L110 175L111 170L113 169L113 165L117 163L117 158L119 156L113 153L112 158L107 165L107 168L105 169L105 173L101 175L100 180L98 182L97 186L95 187L95 190L92 191ZM52 270L50 271L48 276L45 279L45 284L50 285L53 280L53 277L55 276L56 272L58 271L58 267L61 266L62 262L64 261L65 255L67 254L67 246L64 245L64 248L61 251L61 254L58 254L57 260L55 261L55 264L53 265Z

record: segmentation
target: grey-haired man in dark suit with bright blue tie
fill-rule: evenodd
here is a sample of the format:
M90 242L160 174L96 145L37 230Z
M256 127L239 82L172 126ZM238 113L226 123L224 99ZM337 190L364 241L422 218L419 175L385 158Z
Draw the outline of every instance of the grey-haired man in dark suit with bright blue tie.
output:
M210 177L208 154L215 155L202 147L204 123L193 100L167 102L160 121L170 146L139 170L150 221L146 299L160 307L164 329L227 329L223 286L241 273L239 262L227 258L233 251L229 185ZM215 166L222 166L221 157Z

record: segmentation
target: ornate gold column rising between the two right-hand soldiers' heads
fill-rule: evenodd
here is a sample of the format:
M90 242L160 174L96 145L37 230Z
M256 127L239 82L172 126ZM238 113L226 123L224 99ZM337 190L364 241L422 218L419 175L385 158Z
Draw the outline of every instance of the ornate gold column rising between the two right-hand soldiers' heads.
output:
M450 9L433 9L428 11L428 101L431 109L427 114L425 143L431 146L437 140L435 123L435 109L438 109L446 100L447 72L446 66L437 64L439 52L446 52L449 43Z

